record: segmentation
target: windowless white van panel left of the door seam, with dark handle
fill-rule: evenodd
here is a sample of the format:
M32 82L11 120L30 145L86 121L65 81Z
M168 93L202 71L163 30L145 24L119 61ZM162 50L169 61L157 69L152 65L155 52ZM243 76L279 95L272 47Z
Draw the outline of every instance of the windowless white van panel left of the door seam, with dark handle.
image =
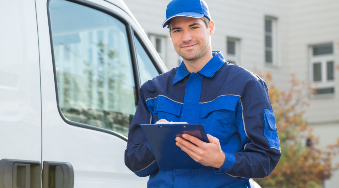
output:
M1 1L0 25L0 187L39 187L41 98L34 0Z

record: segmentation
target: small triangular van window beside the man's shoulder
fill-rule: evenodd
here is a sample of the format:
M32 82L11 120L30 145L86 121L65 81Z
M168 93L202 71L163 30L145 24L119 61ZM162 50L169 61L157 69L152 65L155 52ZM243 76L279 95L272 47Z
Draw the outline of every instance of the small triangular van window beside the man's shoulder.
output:
M147 80L152 79L155 76L158 76L159 73L154 67L151 59L148 57L146 51L141 46L137 37L134 36L135 48L137 51L138 66L140 72L140 81L141 84L145 83Z

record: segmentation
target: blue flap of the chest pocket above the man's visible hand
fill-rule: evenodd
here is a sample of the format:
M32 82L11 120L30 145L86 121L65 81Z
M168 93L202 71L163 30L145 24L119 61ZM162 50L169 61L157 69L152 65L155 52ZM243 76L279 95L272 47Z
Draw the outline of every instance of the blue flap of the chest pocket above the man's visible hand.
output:
M201 110L201 118L206 117L209 113L216 110L234 111L239 97L234 95L225 95L216 98L211 102L203 103Z

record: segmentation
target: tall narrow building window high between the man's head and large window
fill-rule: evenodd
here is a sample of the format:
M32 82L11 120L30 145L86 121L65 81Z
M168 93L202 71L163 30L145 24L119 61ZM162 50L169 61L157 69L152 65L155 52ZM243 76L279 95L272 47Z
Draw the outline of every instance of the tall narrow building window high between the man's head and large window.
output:
M265 16L265 62L277 65L277 19Z

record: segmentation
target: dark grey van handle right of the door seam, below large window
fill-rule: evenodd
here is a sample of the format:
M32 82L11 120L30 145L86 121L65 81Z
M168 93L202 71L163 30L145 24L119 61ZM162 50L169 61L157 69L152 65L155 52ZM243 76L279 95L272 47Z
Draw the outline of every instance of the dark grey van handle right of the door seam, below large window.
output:
M74 170L71 163L44 161L42 168L43 188L73 188Z

